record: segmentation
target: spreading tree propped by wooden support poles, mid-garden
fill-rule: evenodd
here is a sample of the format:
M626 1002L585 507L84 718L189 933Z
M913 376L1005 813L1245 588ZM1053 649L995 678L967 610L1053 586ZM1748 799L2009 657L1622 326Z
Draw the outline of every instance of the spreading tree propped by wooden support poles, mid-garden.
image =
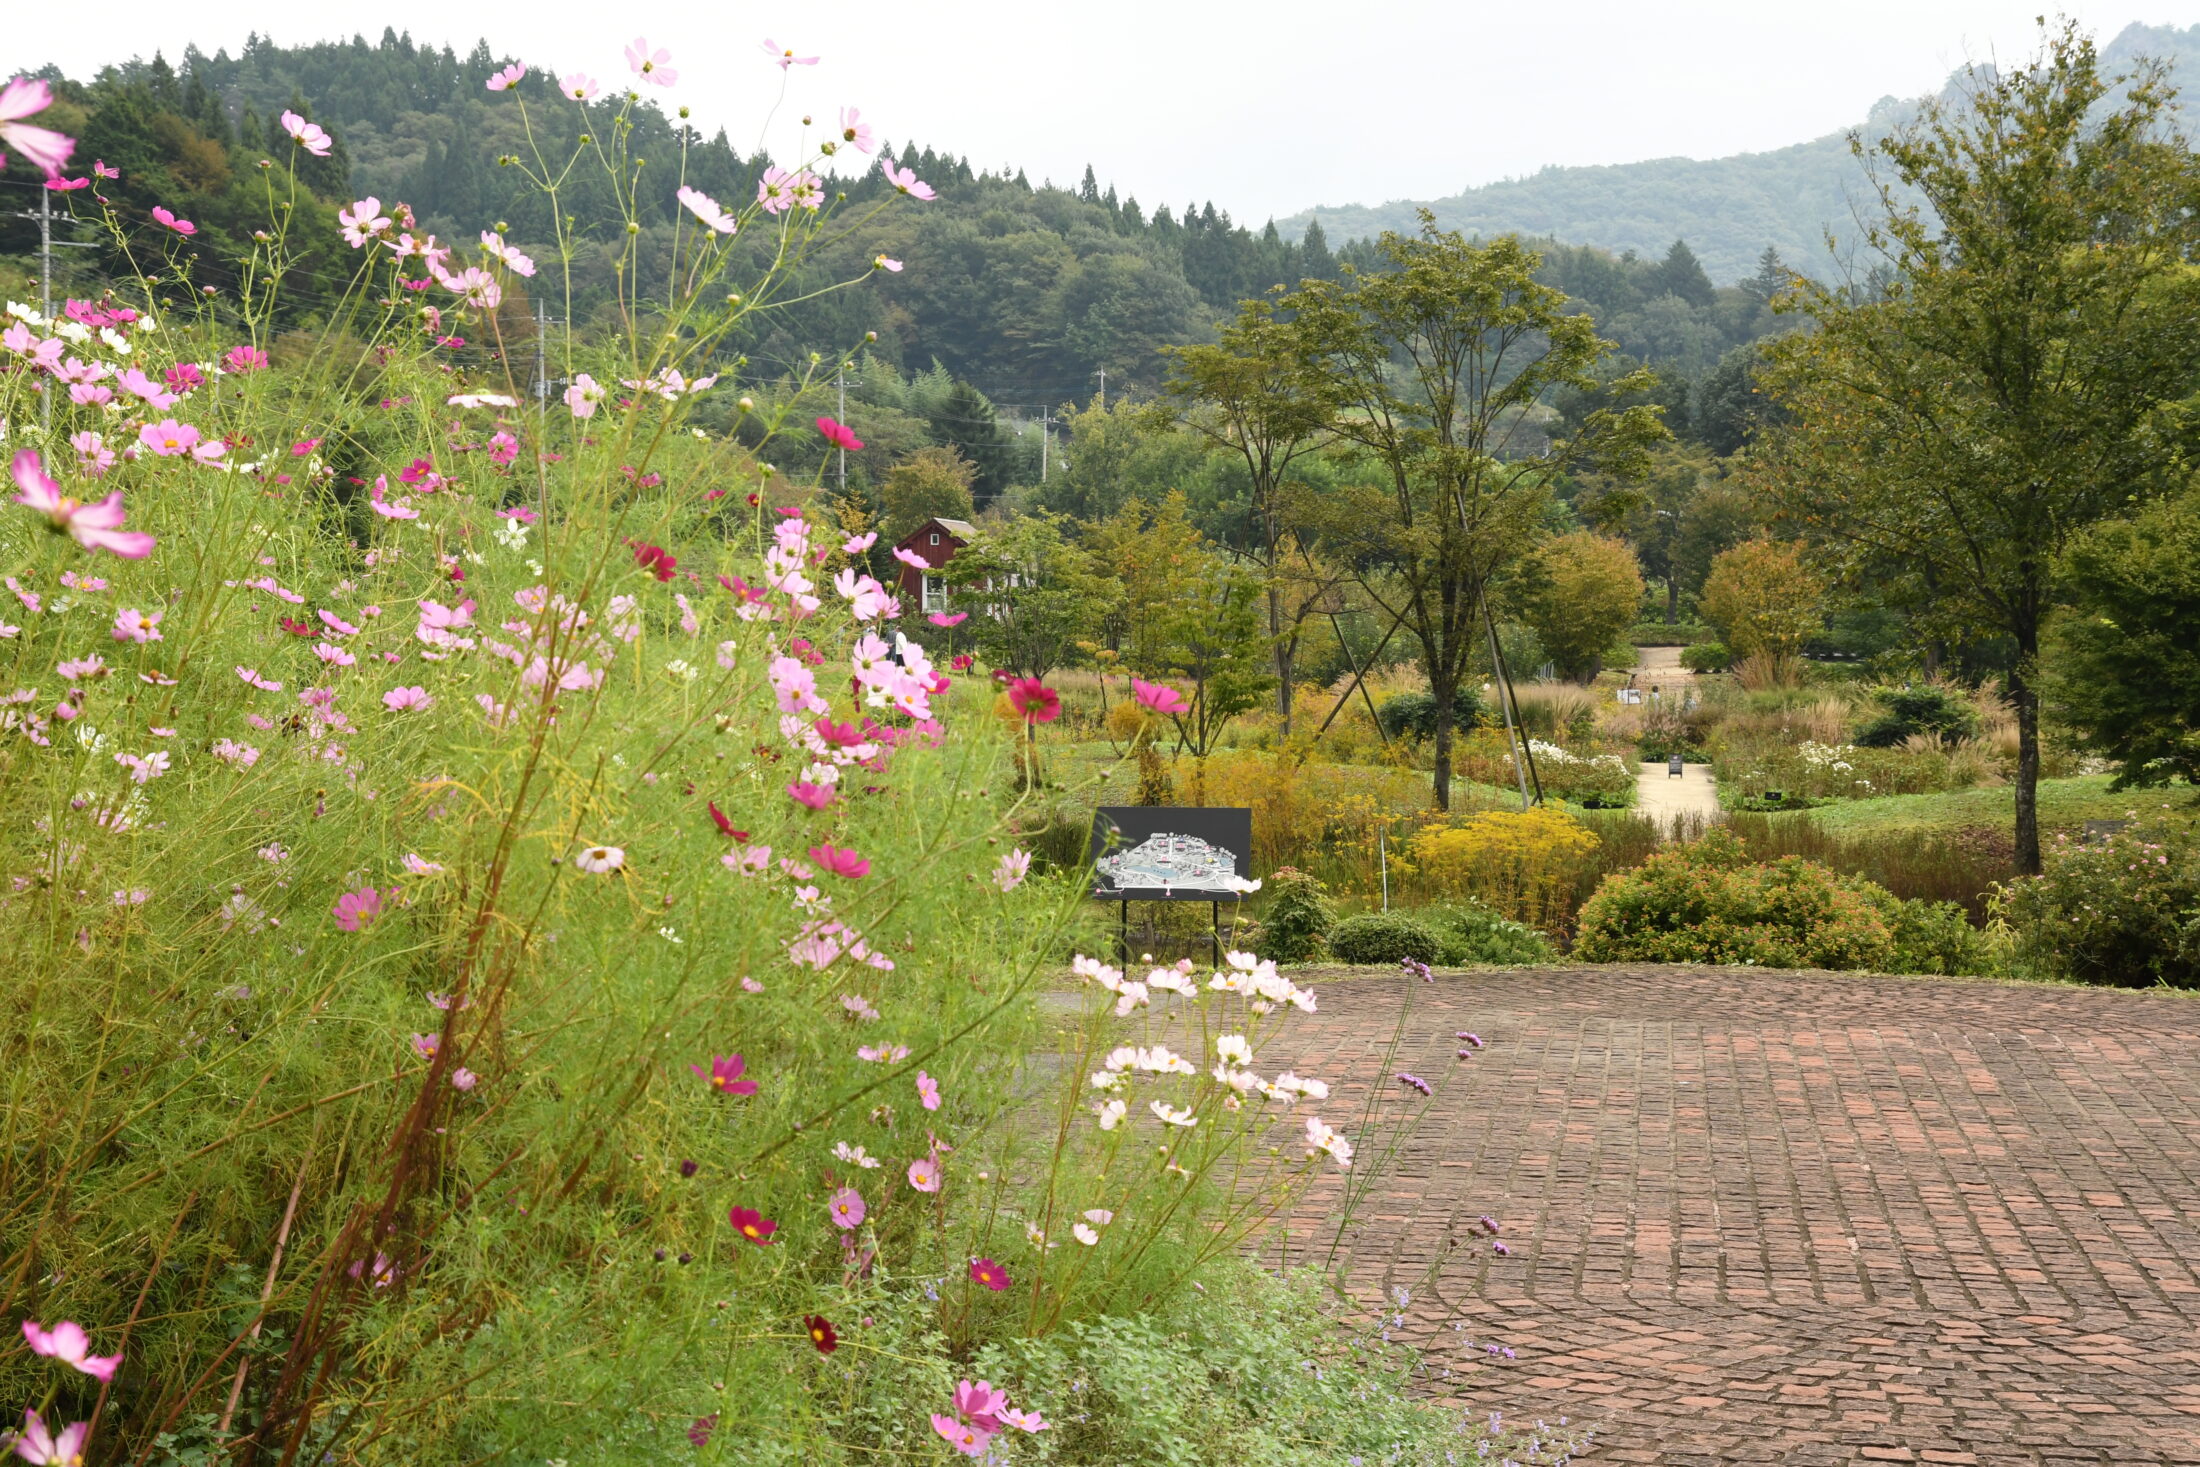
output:
M1375 251L1382 271L1307 282L1283 304L1335 402L1331 433L1382 477L1368 512L1333 517L1333 534L1421 647L1437 699L1434 801L1450 809L1452 702L1483 640L1483 592L1540 537L1562 475L1639 473L1665 429L1637 405L1542 438L1538 409L1560 387L1597 387L1613 343L1536 279L1540 257L1520 240L1470 244L1423 211L1417 238L1386 233Z

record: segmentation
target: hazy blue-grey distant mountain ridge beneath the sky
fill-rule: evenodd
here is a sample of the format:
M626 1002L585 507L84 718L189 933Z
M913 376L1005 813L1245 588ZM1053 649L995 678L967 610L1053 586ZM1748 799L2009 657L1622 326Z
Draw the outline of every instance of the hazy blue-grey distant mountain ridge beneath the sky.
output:
M2110 70L2145 55L2174 62L2176 75L2193 86L2187 112L2200 108L2200 26L2134 22L2101 48ZM1866 136L1899 123L1910 106L1883 97L1861 123ZM1859 207L1870 202L1870 180L1848 152L1844 130L1729 158L1544 167L1450 198L1318 205L1276 220L1276 229L1296 238L1320 220L1331 242L1364 240L1386 229L1412 231L1417 211L1428 209L1437 224L1467 235L1540 235L1650 260L1674 240L1687 240L1714 282L1734 282L1756 271L1767 244L1797 271L1833 275L1835 257L1855 244ZM1826 251L1828 233L1837 255Z

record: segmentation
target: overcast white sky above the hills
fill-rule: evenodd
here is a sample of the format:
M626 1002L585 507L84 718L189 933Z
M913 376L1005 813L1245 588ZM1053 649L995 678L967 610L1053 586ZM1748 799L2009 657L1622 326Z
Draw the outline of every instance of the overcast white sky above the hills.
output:
M1247 222L1309 205L1437 198L1544 163L1780 147L1848 128L1879 97L1936 88L1965 59L2022 55L2046 0L99 0L11 4L0 68L88 77L187 42L414 40L603 81L636 31L673 51L706 128L752 139L777 95L770 35L816 68L792 108L856 103L893 141L1102 185L1148 209L1212 198ZM2189 26L2200 0L2070 0L2108 42L2132 20ZM2196 79L2200 84L2200 79Z

